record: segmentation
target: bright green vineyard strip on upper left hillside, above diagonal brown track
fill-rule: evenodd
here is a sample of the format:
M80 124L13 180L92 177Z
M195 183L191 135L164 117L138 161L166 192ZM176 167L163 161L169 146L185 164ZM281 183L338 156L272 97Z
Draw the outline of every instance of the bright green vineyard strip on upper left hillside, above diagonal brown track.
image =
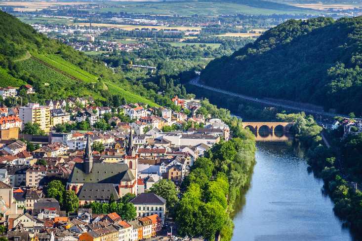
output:
M75 66L63 60L61 57L58 57L56 55L34 55L34 57L40 59L51 67L59 69L60 71L72 75L73 77L80 79L86 83L94 83L98 80L98 78L93 74L90 74L80 69L78 66Z

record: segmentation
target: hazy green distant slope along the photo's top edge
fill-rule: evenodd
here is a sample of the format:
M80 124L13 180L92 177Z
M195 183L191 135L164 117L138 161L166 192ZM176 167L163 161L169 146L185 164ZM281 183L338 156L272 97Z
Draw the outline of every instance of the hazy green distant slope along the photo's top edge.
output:
M285 14L285 13L312 13L308 9L279 10L267 7L251 7L248 5L231 2L208 2L208 1L167 1L167 2L112 2L112 7L98 9L101 12L129 12L160 15L222 15L222 14Z

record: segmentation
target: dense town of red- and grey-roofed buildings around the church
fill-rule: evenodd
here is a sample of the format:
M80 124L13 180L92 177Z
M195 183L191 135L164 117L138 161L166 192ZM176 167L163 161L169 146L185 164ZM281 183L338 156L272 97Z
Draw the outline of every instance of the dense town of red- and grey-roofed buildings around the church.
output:
M21 87L28 94L31 85ZM19 89L0 89L16 98ZM0 213L11 241L137 241L155 237L167 223L165 199L150 192L162 179L180 187L194 161L214 143L230 138L222 120L197 114L201 101L172 102L184 111L125 103L96 106L91 97L0 108ZM128 119L130 121L122 121ZM88 130L57 131L63 125ZM106 123L108 130L97 129ZM37 127L43 135L24 134ZM197 127L197 128L196 128ZM34 146L33 150L30 150ZM45 188L62 180L80 208L66 213ZM133 194L136 219L82 208ZM110 238L112 237L112 238Z

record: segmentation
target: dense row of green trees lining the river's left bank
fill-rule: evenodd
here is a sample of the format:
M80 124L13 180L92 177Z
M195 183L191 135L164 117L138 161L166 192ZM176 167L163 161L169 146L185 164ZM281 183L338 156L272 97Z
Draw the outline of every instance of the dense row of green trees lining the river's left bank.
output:
M232 213L242 187L250 182L255 165L255 137L240 122L229 123L234 138L214 144L198 158L183 182L183 196L176 211L181 235L230 241Z

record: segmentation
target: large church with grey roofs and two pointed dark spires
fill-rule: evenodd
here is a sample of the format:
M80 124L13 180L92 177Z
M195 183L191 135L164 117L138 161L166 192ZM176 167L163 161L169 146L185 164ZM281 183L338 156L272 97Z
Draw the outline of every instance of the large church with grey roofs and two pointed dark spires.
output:
M108 202L111 195L117 201L126 193L137 195L137 159L129 133L126 152L118 163L93 162L89 135L83 163L76 163L69 176L67 189L77 193L80 205L90 202Z

